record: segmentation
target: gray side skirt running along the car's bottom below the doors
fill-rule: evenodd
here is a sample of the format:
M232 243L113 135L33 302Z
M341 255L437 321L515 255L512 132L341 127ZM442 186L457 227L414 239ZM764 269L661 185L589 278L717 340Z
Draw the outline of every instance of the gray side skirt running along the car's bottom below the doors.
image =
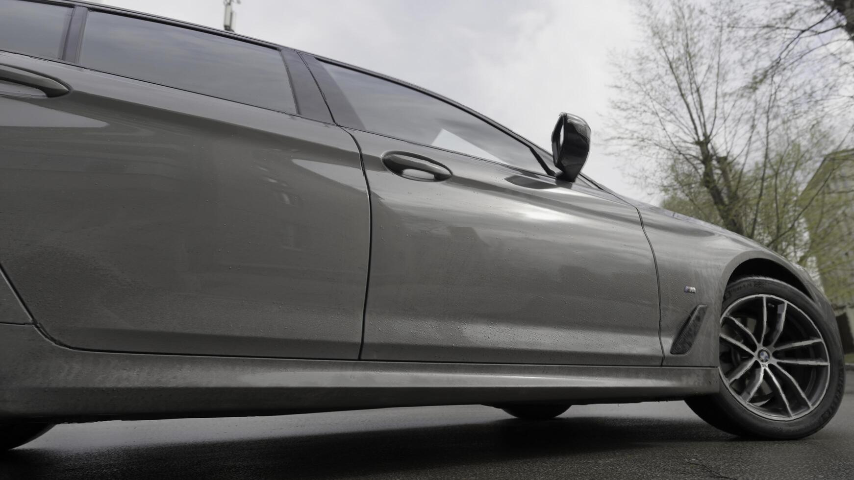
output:
M0 419L56 422L424 405L641 402L717 391L709 367L288 360L71 350L0 325Z

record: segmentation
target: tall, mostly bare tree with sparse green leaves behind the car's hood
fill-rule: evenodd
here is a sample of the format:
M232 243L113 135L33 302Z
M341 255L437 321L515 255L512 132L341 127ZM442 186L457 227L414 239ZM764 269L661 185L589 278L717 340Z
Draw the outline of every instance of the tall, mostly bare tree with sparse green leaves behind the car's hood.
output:
M726 0L644 3L642 42L616 61L609 127L666 208L805 264L839 241L830 223L810 229L852 197L812 179L828 153L850 144L852 123L837 64L793 61L781 38L757 34L776 11ZM854 46L844 28L830 34ZM844 163L825 165L833 178Z

